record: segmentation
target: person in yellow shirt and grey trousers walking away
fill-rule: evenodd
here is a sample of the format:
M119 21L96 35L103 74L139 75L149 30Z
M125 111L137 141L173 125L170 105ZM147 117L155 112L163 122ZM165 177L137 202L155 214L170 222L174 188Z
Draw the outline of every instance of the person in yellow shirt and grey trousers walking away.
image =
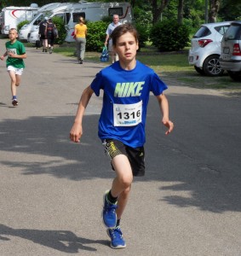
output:
M83 64L86 45L87 26L84 23L85 21L83 17L79 17L78 24L74 26L74 35L77 49L77 61L79 64Z

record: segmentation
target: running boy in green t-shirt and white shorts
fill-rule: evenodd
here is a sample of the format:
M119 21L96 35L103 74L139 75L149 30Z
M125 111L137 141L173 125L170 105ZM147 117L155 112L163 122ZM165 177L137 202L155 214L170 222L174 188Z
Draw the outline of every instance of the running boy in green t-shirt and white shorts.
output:
M11 91L12 91L12 104L14 106L18 105L18 100L16 96L17 86L20 85L20 76L25 68L25 63L23 59L26 59L26 49L20 41L17 40L18 32L15 28L9 30L9 39L6 45L6 52L0 59L3 61L5 56L8 56L6 61L7 69L9 72L9 77L11 79Z

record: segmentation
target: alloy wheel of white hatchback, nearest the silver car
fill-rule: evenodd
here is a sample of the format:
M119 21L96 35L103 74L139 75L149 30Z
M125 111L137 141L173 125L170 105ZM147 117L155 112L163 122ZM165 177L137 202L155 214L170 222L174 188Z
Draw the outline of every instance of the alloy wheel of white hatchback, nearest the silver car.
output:
M219 55L210 55L204 61L204 73L211 77L220 76L224 72L221 69Z

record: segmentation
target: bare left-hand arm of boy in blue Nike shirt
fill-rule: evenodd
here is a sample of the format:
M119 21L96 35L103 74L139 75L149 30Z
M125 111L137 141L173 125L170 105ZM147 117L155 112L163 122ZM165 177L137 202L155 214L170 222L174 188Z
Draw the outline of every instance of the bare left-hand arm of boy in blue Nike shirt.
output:
M77 114L72 125L72 130L70 131L70 139L74 143L80 142L80 137L82 137L83 129L82 129L82 121L83 121L83 113L89 103L89 99L91 98L94 90L91 89L90 85L83 90L83 94L80 98L77 108Z

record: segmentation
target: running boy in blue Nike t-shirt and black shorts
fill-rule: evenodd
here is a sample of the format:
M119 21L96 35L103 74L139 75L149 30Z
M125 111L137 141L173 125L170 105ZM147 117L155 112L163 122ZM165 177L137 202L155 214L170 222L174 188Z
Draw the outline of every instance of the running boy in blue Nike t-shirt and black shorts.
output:
M78 143L83 135L83 113L90 97L100 96L104 90L99 120L99 137L112 169L116 172L112 188L104 195L103 221L111 237L112 248L126 247L120 230L120 219L126 207L133 176L145 174L144 143L146 108L149 93L157 97L163 113L166 134L173 130L169 120L169 104L163 91L167 89L156 73L135 60L138 36L130 24L123 24L112 32L114 50L119 61L97 73L93 82L83 90L70 138Z

